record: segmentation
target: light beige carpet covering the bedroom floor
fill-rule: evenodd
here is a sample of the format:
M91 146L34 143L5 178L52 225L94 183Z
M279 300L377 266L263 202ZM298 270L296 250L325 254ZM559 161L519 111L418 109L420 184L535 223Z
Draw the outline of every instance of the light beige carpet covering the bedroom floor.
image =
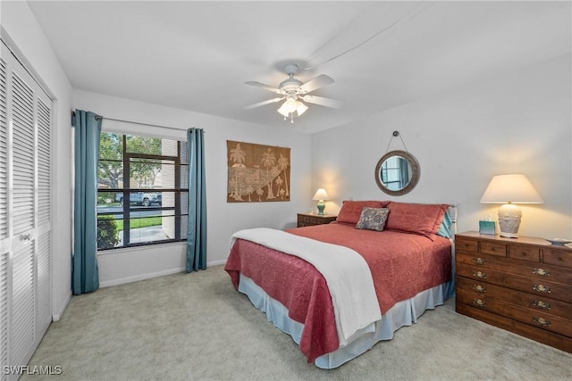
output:
M317 369L223 266L73 297L29 365L61 366L58 380L572 379L572 354L459 315L453 300L340 368Z

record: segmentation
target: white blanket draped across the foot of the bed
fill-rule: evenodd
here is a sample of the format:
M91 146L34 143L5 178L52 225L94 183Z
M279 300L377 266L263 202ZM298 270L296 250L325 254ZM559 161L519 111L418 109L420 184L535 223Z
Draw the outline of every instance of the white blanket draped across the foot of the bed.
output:
M231 237L231 247L237 238L295 255L322 273L332 295L341 346L357 330L382 319L371 271L364 258L348 247L272 228L240 230Z

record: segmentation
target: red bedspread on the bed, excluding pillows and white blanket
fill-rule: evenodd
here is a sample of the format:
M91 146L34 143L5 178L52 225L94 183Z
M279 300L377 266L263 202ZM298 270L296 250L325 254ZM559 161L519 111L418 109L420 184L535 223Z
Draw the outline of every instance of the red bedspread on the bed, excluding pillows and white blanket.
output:
M382 313L396 302L450 280L447 238L437 237L433 242L425 236L361 230L341 223L286 231L360 253L372 271ZM308 362L338 349L330 292L322 274L307 261L239 239L224 269L235 287L241 272L286 306L290 319L304 324L299 346Z

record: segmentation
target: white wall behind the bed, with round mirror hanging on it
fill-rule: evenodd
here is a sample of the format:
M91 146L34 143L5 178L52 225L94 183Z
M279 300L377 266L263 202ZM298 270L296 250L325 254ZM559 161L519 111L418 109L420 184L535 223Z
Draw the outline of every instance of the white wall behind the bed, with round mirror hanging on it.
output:
M544 203L520 205L523 236L572 237L570 55L404 104L312 136L312 188L337 211L348 198L458 203L458 232L500 205L479 203L493 175L524 173ZM385 195L374 168L399 130L421 178L408 195ZM393 138L390 150L404 149Z

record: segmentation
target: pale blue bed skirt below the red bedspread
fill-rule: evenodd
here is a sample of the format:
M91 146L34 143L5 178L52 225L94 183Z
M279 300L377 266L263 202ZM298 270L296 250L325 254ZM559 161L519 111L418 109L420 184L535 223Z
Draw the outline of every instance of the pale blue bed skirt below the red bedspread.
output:
M242 274L240 274L239 291L247 294L250 302L258 310L265 312L266 319L272 322L275 327L290 335L296 344L300 343L304 325L290 319L288 310L281 302L268 296L252 279ZM411 299L396 303L372 327L366 327L358 335L354 335L349 344L335 352L326 353L318 357L315 360L315 366L322 369L338 368L343 363L355 359L360 354L368 351L377 342L391 340L393 333L400 327L411 326L413 323L416 323L417 318L425 310L433 310L436 306L449 299L454 292L454 282L450 281L422 291Z

